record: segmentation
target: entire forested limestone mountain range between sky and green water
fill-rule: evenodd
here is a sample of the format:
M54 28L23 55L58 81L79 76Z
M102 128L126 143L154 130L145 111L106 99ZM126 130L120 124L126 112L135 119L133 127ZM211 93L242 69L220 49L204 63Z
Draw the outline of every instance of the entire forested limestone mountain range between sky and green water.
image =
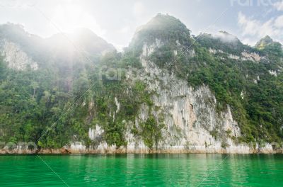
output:
M282 151L283 53L268 36L255 47L225 31L195 36L158 13L123 52L88 29L42 39L6 24L0 54L0 142L36 142L38 152Z

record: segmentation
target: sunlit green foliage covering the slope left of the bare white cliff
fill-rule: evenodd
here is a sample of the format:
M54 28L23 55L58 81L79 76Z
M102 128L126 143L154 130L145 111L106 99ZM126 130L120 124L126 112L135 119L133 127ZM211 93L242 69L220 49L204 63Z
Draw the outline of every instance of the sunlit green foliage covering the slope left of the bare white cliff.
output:
M89 139L88 130L99 125L104 131L100 140L127 145L127 123L134 122L141 104L152 105L146 84L126 81L125 70L119 70L140 66L136 61L132 52L109 52L93 60L95 66L16 71L1 59L0 141L36 142L42 148L80 141L89 147L97 142Z

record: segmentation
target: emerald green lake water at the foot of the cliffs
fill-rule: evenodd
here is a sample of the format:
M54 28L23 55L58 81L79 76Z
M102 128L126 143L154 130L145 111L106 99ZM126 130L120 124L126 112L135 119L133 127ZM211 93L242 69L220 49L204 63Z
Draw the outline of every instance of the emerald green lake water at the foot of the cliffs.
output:
M283 186L279 154L40 157L69 186ZM0 186L67 186L44 162L37 156L0 156Z

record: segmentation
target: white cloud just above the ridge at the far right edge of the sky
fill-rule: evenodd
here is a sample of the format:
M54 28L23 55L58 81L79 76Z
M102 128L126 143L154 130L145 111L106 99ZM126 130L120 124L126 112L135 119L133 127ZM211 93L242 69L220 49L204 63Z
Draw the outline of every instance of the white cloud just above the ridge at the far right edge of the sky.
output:
M262 38L265 35L270 35L271 38L282 42L283 33L283 16L270 18L267 21L260 21L255 18L250 18L243 13L238 13L238 26L242 30L243 36Z

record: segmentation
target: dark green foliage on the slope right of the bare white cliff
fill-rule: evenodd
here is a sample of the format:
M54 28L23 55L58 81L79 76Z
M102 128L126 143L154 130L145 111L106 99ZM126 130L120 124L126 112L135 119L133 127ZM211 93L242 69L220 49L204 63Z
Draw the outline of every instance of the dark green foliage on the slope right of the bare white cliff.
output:
M250 47L226 32L216 36L204 33L191 39L190 30L178 27L178 21L171 24L166 15L156 16L137 32L136 37L149 45L156 42L154 37L158 36L149 34L155 33L155 26L150 23L160 19L163 20L161 23L168 24L168 28L182 31L172 35L164 30L162 38L171 40L161 40L162 45L151 53L149 60L173 71L180 79L187 79L192 86L208 85L216 96L219 111L231 106L233 118L238 121L243 135L240 141L282 142L282 45L265 37L256 47ZM182 45L176 45L176 40ZM197 41L190 45L191 40ZM195 55L184 52L184 49L194 50ZM216 50L216 54L211 54L209 49ZM229 57L241 57L245 52L257 54L262 59L254 62ZM277 76L270 74L271 71L277 72Z

